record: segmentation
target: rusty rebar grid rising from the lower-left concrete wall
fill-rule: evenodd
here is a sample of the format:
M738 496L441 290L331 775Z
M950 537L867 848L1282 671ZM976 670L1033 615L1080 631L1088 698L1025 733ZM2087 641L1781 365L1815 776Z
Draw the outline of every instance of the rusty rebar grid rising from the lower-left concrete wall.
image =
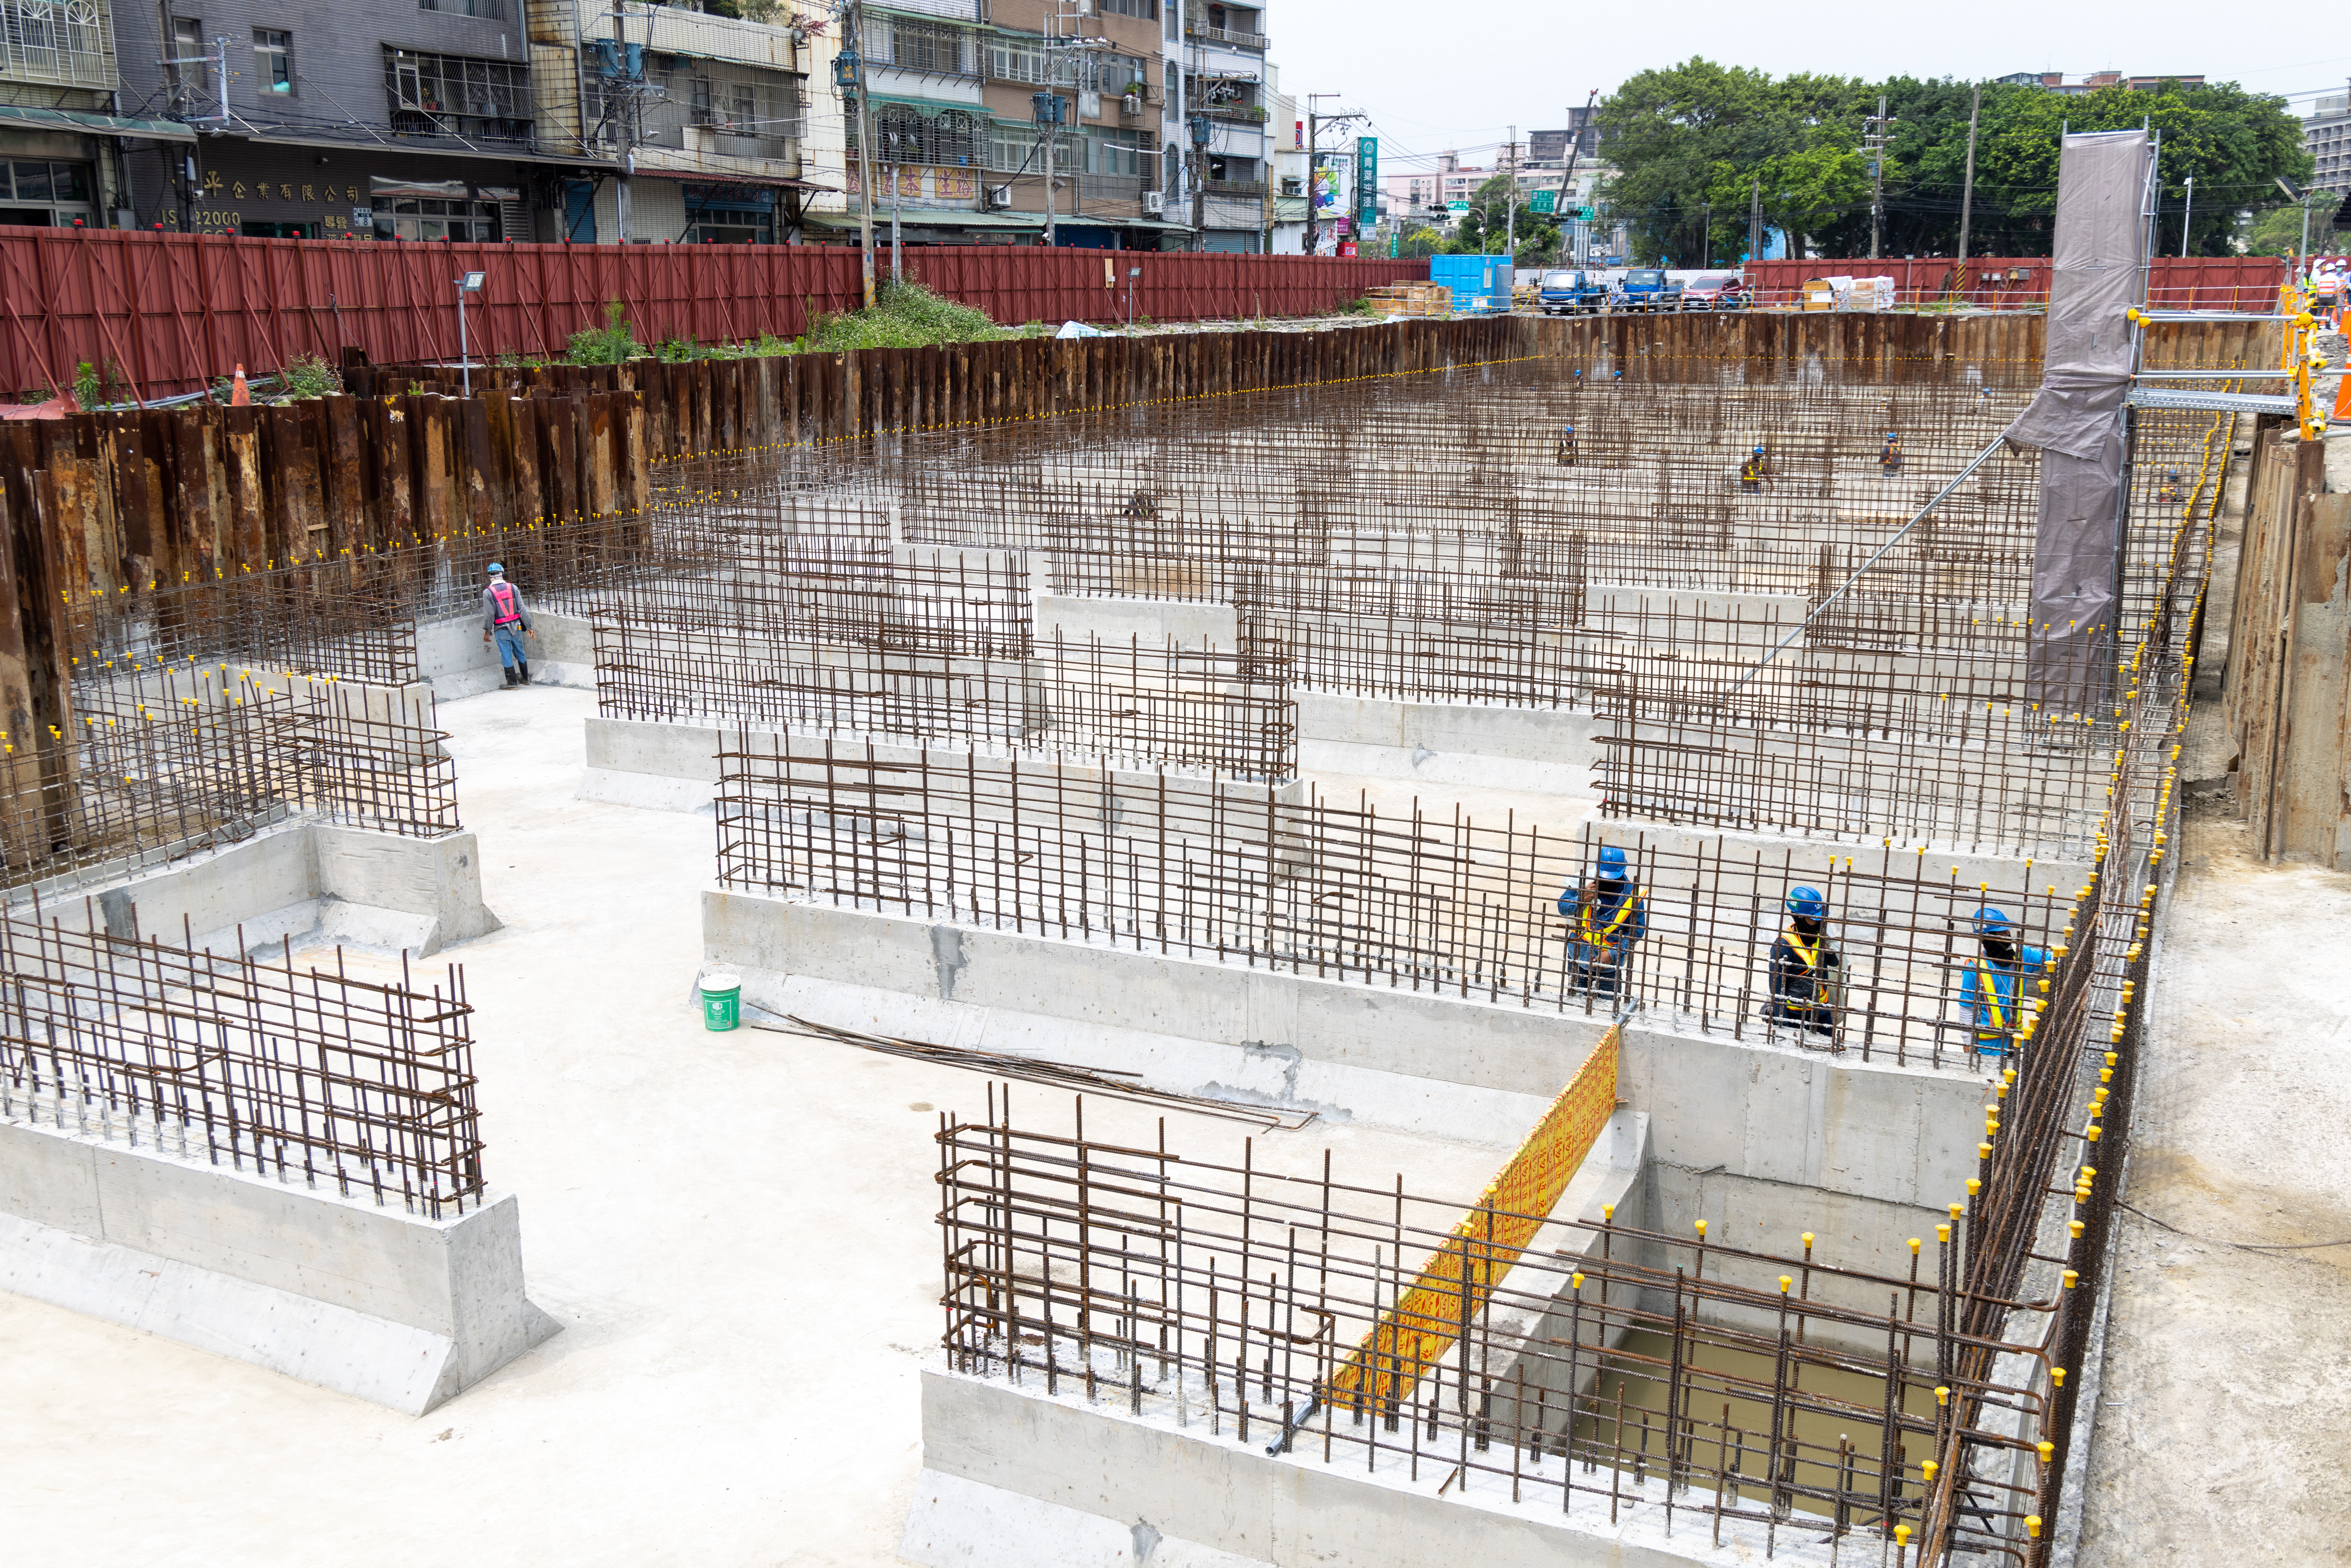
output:
M99 922L92 922L96 926ZM461 1215L482 1201L473 1006L440 983L0 917L0 1117Z

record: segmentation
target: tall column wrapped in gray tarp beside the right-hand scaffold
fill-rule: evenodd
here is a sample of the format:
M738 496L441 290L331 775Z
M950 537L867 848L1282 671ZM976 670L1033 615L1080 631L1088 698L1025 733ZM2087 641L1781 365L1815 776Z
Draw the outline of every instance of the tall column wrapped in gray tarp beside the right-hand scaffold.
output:
M2083 712L2114 642L2121 559L2123 395L2146 226L2146 132L2064 139L2041 390L2008 440L2041 451L2027 701Z

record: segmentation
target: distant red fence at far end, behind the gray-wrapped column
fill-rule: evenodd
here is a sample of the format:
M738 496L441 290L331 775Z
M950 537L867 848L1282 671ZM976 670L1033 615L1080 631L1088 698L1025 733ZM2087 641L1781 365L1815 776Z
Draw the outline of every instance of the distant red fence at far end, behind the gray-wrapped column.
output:
M2285 282L2283 256L2156 256L2146 301L2158 310L2273 310ZM1968 256L1961 277L1949 256L1860 261L1749 261L1747 287L1759 306L1796 306L1813 277L1893 277L1897 306L1958 303L1977 310L2043 310L2050 303L2048 256Z

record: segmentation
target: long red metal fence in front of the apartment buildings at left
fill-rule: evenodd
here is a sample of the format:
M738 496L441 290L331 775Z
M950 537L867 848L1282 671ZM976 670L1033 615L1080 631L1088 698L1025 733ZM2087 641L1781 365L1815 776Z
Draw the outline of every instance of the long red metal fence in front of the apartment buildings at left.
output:
M886 263L886 261L884 261ZM193 393L357 346L379 362L564 353L618 301L642 343L799 336L860 303L858 252L816 244L402 244L122 230L0 233L0 393L113 367L118 397ZM1133 270L1133 277L1128 277ZM999 324L1232 320L1335 310L1427 277L1427 261L955 247L907 254L917 282Z

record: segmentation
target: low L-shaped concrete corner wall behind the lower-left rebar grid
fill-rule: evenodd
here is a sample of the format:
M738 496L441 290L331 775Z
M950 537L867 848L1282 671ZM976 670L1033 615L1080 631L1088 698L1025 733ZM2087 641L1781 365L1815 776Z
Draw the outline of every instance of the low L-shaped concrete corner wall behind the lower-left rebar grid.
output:
M407 839L310 820L45 900L42 917L75 931L193 938L214 952L294 938L426 957L498 929L482 903L482 851L470 832Z

